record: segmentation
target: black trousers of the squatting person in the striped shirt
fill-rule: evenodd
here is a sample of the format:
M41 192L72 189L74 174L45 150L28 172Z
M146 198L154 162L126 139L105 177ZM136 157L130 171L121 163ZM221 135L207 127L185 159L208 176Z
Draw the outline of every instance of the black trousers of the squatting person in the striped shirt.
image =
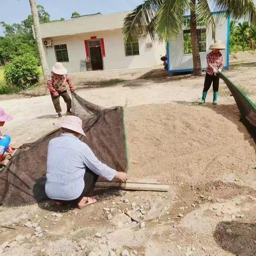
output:
M95 187L95 183L97 182L99 175L95 174L88 167L86 167L86 171L84 174L84 190L78 198L70 201L66 200L55 200L57 202L61 202L63 204L77 204L84 196L92 196L93 190Z

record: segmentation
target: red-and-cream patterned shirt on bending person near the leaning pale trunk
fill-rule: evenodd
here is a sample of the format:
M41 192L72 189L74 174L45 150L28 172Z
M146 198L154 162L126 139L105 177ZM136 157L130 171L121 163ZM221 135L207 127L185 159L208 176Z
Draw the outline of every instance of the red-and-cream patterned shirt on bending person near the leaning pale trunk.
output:
M66 84L68 84L70 90L74 89L71 80L67 74L56 75L53 72L51 72L51 74L47 78L46 86L49 88L51 93L54 93L66 91Z

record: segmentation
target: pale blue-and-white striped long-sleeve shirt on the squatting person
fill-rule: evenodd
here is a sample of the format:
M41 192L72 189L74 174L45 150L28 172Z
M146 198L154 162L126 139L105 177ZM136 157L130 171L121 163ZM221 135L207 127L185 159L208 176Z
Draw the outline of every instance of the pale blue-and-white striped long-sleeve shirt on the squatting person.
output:
M74 135L62 134L49 142L45 193L51 199L74 200L84 190L88 167L99 176L112 180L116 170L103 164L86 143Z

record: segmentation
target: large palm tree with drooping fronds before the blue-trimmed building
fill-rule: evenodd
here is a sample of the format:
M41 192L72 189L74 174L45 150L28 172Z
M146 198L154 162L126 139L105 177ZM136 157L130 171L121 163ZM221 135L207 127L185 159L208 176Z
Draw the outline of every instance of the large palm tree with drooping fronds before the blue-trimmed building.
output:
M210 5L214 10L225 11L225 17L247 19L256 25L256 7L253 0L146 0L137 6L124 20L123 33L129 41L141 33L149 34L156 41L175 41L184 27L185 15L190 11L190 34L192 43L194 75L202 75L199 55L197 23L204 22L213 31L215 22Z

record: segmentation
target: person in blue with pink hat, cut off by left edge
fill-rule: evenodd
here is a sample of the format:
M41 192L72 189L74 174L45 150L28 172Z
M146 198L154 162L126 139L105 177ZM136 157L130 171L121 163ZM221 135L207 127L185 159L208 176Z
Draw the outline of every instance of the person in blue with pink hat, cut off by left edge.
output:
M13 118L7 114L5 114L4 110L0 108L0 126L4 126L4 123L6 121L11 121ZM0 132L0 165L2 158L4 156L4 153L13 153L13 149L10 146L11 138L9 135L2 135Z

